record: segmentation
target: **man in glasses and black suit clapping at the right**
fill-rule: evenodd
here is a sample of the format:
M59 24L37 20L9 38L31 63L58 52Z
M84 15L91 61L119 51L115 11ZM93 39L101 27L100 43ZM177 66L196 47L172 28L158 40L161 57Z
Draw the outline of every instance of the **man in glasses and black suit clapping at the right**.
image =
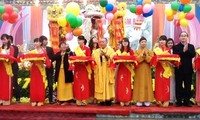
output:
M191 107L190 98L192 84L192 59L195 57L194 45L189 44L188 33L181 32L179 35L180 43L175 45L173 53L178 54L181 58L181 65L175 69L176 81L176 105ZM184 87L183 87L184 84Z

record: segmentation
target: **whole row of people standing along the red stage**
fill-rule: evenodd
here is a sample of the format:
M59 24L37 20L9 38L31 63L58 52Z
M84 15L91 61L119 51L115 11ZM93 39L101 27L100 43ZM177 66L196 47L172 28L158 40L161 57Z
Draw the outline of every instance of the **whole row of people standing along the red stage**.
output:
M66 42L59 45L60 51L54 54L48 47L48 39L40 36L34 39L35 49L27 54L43 54L46 61L32 60L30 66L30 102L32 106L42 106L45 101L45 80L48 81L48 99L53 101L53 83L57 82L57 101L61 105L76 101L76 105L99 104L110 106L119 103L130 106L150 106L155 99L156 104L168 107L191 107L191 84L193 74L193 58L198 56L195 48L188 42L187 32L179 35L180 43L174 44L173 39L165 35L159 37L157 45L150 50L147 40L141 37L139 48L133 51L128 38L123 38L116 49L108 46L108 39L91 38L87 46L84 36L78 36L77 46L73 52ZM18 58L18 48L12 44L13 38L7 34L1 36L0 54ZM155 91L152 86L151 61L157 55L173 55L180 57L177 66L170 60L159 61L155 66ZM70 62L71 56L91 57L93 61ZM115 56L134 56L137 63L122 61L113 63ZM55 66L52 63L55 63ZM44 65L46 64L46 65ZM111 64L115 64L113 67ZM53 77L54 75L54 77ZM20 102L18 79L18 63L0 60L0 104L10 105L12 85L16 102ZM54 79L53 79L54 78ZM11 80L12 79L12 80ZM198 92L197 92L198 93ZM198 97L199 95L196 94ZM200 102L197 100L197 103Z

